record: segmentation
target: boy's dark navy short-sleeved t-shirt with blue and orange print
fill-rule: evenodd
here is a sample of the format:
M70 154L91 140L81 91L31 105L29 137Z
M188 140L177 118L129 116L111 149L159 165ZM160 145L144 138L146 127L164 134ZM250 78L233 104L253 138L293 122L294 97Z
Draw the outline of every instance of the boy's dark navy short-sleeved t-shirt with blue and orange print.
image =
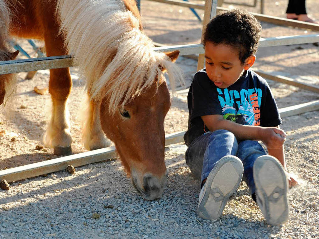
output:
M206 69L198 71L189 87L186 145L209 131L200 116L222 115L224 119L263 127L282 123L276 101L266 80L248 70L231 86L221 89L208 78Z

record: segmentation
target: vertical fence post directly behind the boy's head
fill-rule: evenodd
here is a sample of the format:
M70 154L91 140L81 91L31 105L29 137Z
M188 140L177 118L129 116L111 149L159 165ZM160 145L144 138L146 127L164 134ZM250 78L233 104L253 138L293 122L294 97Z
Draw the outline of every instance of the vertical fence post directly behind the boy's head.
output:
M216 15L216 8L217 8L217 0L205 1L205 13L204 13L204 19L203 19L201 43L203 43L203 34L205 32L206 25ZM197 71L199 71L200 69L203 69L204 65L205 65L204 54L199 54L198 62L197 62Z

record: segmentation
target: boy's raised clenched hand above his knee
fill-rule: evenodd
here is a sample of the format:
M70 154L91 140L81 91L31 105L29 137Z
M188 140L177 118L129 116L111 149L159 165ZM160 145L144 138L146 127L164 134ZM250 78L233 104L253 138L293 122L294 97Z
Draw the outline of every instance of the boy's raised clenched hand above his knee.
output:
M267 148L279 149L286 141L285 131L276 127L265 127L260 130L263 143Z

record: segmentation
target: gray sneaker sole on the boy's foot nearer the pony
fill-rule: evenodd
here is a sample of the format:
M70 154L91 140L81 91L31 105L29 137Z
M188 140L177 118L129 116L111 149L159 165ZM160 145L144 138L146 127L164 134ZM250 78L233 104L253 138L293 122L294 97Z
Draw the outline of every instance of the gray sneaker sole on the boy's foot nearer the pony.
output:
M236 156L222 157L216 163L199 194L199 217L214 220L221 216L229 197L241 183L243 171L242 162Z

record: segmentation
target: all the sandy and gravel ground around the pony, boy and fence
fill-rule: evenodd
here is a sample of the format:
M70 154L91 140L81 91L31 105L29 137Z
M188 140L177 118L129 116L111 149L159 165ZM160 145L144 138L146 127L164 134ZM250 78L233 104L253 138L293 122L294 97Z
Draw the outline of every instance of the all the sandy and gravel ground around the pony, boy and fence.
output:
M265 13L283 17L287 1L277 3L266 0ZM307 0L307 6L318 19L316 1ZM143 1L142 16L145 31L154 41L167 45L199 42L201 25L187 8ZM309 34L262 25L263 37ZM19 42L32 53L26 41ZM318 47L303 44L260 49L254 66L318 85L318 62ZM185 72L188 86L197 63L180 57L177 64ZM77 69L71 71L72 148L80 153L85 151L79 117L84 93ZM51 149L35 150L46 129L50 96L38 95L33 88L47 87L48 71L38 72L31 81L23 80L25 75L20 74L14 117L11 121L0 118L0 130L6 131L0 137L0 169L56 158ZM279 108L319 98L297 87L268 83ZM187 94L174 99L164 123L166 133L187 129L186 102ZM186 146L176 144L165 150L169 177L163 197L151 202L137 195L118 160L78 167L74 175L60 171L11 183L10 190L0 190L0 238L319 238L319 111L284 118L282 128L288 134L287 168L299 177L300 185L289 191L290 216L281 227L267 225L244 182L220 220L197 218L200 185L185 164Z

